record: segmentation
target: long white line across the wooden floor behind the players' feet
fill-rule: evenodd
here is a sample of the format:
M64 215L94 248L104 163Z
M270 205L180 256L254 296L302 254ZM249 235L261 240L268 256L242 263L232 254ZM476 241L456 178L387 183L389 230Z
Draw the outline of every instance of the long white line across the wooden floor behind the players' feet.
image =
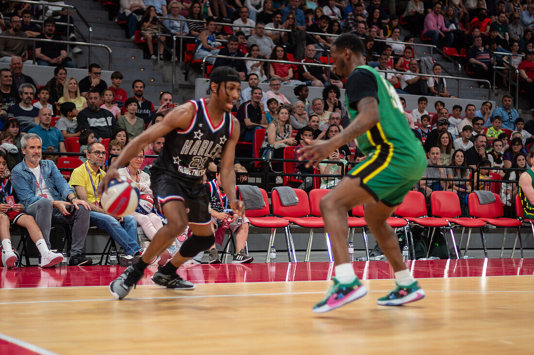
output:
M214 285L214 284L209 284ZM150 286L150 285L143 285ZM104 287L104 286L102 286ZM107 286L106 286L107 287ZM142 286L140 286L142 287ZM156 289L156 288L154 288ZM367 293L387 293L389 290L367 290ZM512 293L512 294L532 294L534 291L475 291L475 290L461 290L461 291L445 291L445 290L425 290L426 293ZM128 299L142 301L145 299L180 299L180 298L219 298L219 297L251 297L251 296L289 296L289 295L316 295L324 294L324 291L313 292L282 292L272 294L238 294L238 295L201 295L201 296L166 296L166 297L130 297ZM0 302L0 305L13 304L36 304L36 303L71 303L71 302L100 302L100 301L117 301L116 298L94 298L94 299L52 299L49 301L23 301L23 302Z

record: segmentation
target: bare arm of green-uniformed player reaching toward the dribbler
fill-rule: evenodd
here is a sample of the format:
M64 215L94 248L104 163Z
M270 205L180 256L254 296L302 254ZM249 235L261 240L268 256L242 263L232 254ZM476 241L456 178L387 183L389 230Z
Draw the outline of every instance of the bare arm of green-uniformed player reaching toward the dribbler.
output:
M309 145L299 149L299 160L309 160L306 167L317 168L337 147L358 138L380 122L378 101L374 97L365 97L357 103L358 115L339 135L327 140L311 140Z

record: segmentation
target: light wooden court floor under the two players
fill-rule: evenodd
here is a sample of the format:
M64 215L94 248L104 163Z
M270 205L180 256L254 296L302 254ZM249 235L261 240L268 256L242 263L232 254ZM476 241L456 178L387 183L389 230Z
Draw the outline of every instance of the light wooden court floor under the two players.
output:
M311 312L329 282L0 290L0 333L58 354L532 353L534 276L421 279L426 298L376 305L391 280Z

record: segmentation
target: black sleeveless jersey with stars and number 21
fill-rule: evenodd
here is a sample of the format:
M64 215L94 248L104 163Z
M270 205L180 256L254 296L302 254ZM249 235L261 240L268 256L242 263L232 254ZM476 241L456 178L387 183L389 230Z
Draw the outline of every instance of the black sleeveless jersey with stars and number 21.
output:
M189 102L193 102L197 113L185 130L176 128L167 133L151 172L164 170L185 181L202 184L208 163L222 152L232 134L232 116L225 113L224 120L214 127L206 108L206 99Z

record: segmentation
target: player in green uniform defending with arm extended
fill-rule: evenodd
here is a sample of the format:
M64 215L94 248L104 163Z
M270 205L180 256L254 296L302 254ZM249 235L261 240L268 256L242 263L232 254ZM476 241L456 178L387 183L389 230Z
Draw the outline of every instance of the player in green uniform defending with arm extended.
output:
M425 297L403 262L397 236L386 219L419 182L427 160L405 117L395 89L373 68L365 65L364 46L353 34L337 37L330 51L333 69L347 78L345 105L351 123L328 140L310 141L300 160L317 167L337 147L356 139L367 156L320 202L325 229L332 243L335 277L314 312L326 312L363 297L347 251L347 211L365 204L365 220L395 271L396 288L378 299L380 305L402 305Z

